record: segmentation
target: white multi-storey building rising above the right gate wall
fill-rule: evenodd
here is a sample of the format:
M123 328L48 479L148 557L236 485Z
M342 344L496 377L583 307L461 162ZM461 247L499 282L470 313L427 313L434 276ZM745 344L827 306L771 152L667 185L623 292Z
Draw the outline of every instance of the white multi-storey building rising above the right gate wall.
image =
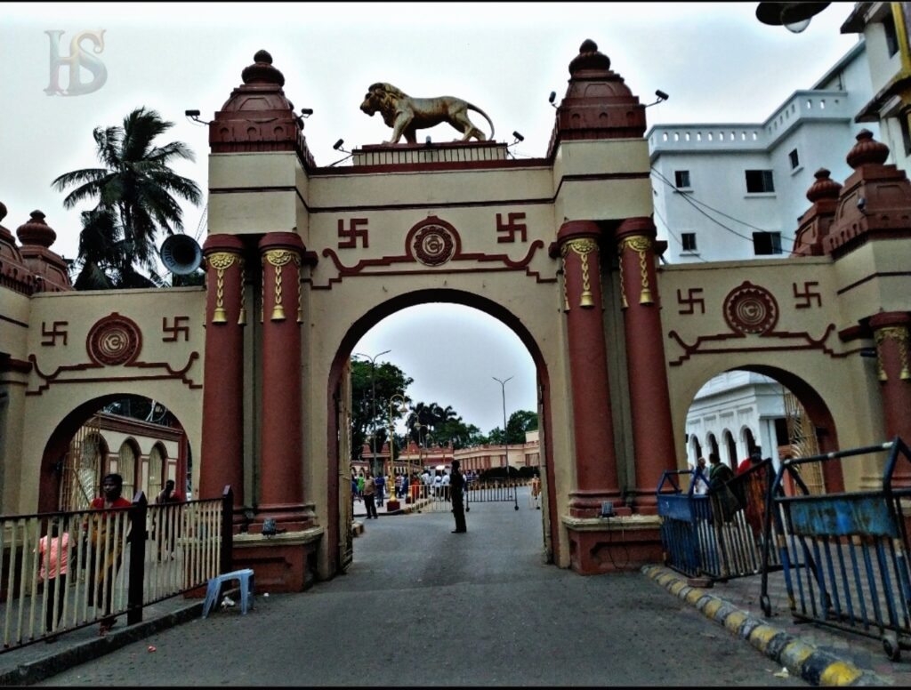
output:
M655 225L670 263L786 257L814 173L842 181L873 95L863 40L763 122L658 125L649 140Z

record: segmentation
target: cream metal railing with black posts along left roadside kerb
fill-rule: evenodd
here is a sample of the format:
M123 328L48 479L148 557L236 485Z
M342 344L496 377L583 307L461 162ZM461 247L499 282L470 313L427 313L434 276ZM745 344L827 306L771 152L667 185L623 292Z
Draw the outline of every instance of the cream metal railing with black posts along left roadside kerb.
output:
M230 570L233 496L0 516L0 624L15 649L189 592Z

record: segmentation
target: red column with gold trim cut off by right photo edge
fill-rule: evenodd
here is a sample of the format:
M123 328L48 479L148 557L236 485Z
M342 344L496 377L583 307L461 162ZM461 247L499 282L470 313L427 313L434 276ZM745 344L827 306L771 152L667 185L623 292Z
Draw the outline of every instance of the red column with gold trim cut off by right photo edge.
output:
M876 370L881 383L883 426L892 440L901 436L911 445L911 365L908 362L908 326L911 313L885 311L870 319L876 340ZM896 465L895 486L911 486L906 462Z

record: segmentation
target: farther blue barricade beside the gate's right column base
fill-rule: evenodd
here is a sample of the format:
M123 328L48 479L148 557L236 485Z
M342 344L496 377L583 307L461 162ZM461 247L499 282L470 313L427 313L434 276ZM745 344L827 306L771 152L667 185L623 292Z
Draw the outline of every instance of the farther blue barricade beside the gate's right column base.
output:
M685 490L681 477L689 480ZM763 460L705 494L695 492L700 478L708 482L699 470L661 476L657 493L665 563L690 577L712 580L762 573L772 461ZM765 567L780 569L777 554L769 553Z

